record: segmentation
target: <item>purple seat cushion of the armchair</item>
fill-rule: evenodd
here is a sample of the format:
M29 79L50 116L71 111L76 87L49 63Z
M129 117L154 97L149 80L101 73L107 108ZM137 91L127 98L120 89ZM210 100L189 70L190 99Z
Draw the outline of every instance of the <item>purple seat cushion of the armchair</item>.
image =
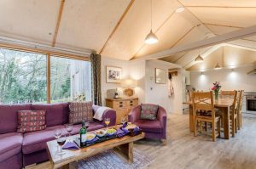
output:
M160 121L146 121L146 120L138 120L135 124L140 127L143 132L154 132L160 133L162 132L162 127Z

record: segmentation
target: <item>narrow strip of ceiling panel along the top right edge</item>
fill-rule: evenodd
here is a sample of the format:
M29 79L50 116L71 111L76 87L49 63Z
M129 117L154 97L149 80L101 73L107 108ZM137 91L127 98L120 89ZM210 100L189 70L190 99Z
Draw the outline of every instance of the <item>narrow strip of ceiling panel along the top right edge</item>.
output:
M255 0L179 0L184 6L256 7Z

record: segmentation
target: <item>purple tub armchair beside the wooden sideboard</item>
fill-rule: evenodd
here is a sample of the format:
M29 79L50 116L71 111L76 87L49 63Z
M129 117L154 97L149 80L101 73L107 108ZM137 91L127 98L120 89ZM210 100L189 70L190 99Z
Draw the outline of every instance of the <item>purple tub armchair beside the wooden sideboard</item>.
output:
M133 108L128 116L130 122L145 132L145 138L160 138L166 144L166 110L159 106L157 119L154 121L141 120L141 105Z

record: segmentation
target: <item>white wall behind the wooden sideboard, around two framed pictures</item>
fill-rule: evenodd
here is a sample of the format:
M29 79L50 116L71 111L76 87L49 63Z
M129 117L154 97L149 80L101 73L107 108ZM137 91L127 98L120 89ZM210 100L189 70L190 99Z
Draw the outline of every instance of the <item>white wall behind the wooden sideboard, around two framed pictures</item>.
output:
M168 70L180 67L161 60L150 61L125 61L119 59L110 59L102 57L102 104L105 105L107 90L121 87L118 83L106 82L106 66L117 66L123 70L123 78L132 78L137 80L135 93L140 103L160 104L167 112L182 113L182 71L178 70L178 76L174 76L172 84L175 94L172 98L168 97L168 83L156 84L154 81L154 69L161 68L166 70L166 80L168 79ZM152 90L151 90L152 87Z

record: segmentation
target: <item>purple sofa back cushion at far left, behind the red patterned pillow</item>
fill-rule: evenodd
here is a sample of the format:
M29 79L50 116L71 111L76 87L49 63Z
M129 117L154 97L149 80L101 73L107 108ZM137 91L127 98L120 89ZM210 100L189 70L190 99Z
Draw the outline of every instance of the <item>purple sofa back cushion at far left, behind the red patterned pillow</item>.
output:
M0 104L0 134L16 132L18 110L31 110L32 104Z

